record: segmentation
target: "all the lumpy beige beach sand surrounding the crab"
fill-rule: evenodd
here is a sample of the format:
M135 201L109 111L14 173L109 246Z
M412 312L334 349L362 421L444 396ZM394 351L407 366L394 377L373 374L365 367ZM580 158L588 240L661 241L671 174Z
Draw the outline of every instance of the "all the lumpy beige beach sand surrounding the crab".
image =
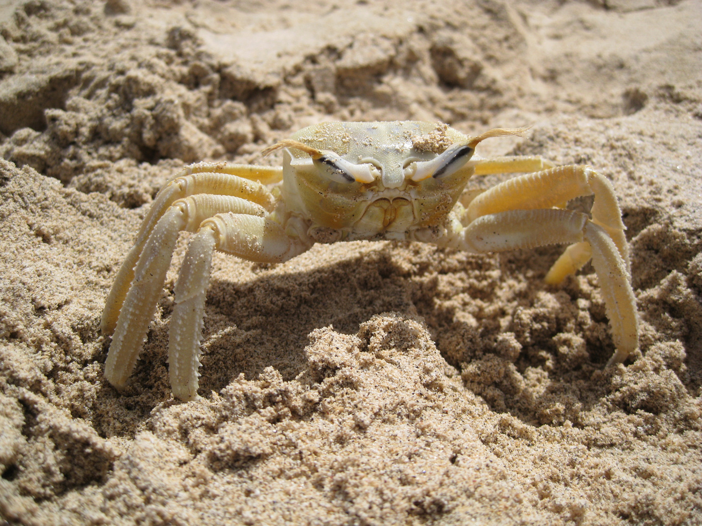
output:
M0 1L1 524L702 523L702 2L397 6ZM479 154L610 177L641 352L604 370L592 267L542 281L559 248L218 255L206 400L175 403L183 238L114 391L100 313L164 180L374 119L532 126Z

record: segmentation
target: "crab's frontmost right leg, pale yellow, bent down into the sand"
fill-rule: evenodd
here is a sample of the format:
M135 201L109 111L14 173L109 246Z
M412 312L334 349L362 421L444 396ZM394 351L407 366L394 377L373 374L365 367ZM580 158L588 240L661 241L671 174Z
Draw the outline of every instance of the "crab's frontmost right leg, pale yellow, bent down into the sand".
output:
M604 227L590 221L587 215L557 209L510 210L484 215L463 229L459 248L483 253L559 243L588 243L592 247L592 264L600 281L616 346L609 363L625 360L638 345L634 292L618 247Z

